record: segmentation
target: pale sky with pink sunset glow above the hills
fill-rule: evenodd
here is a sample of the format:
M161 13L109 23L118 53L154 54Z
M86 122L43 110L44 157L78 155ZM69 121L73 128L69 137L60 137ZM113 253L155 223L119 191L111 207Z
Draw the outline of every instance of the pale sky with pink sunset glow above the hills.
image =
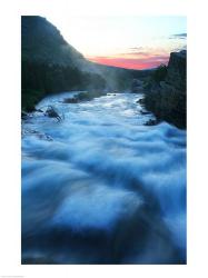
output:
M171 51L186 49L186 17L46 16L87 59L129 69L167 63Z

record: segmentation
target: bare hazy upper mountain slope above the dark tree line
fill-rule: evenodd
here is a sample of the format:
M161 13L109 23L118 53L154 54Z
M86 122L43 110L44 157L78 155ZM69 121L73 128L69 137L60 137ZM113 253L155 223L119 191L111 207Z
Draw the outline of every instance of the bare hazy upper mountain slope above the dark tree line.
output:
M83 56L71 47L46 18L23 16L21 21L22 59L59 66L78 66Z

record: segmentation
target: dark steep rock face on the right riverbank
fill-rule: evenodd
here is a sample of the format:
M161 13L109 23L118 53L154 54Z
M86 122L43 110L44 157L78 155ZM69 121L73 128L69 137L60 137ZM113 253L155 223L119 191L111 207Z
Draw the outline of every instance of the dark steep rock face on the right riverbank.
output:
M170 53L167 73L162 81L150 79L146 85L145 106L157 119L178 128L186 128L187 52Z

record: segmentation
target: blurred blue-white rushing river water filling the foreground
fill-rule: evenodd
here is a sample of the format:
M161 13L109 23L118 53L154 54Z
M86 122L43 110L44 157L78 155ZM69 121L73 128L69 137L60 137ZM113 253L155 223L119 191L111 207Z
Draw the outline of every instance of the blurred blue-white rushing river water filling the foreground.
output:
M186 264L186 131L141 93L62 103L22 122L22 264Z

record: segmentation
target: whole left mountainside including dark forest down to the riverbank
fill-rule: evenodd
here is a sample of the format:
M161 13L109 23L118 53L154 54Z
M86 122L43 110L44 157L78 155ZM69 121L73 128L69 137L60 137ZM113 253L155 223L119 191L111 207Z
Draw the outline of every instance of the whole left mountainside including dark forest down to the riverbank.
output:
M33 110L47 93L125 90L147 70L128 70L87 60L46 18L21 17L22 109Z

